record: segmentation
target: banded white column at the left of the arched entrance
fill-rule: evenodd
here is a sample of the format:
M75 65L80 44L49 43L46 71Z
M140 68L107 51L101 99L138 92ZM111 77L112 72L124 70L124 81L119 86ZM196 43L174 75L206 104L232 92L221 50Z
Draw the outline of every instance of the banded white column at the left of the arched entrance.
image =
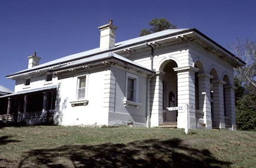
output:
M163 122L162 117L162 75L161 71L157 72L151 81L151 127L158 127Z

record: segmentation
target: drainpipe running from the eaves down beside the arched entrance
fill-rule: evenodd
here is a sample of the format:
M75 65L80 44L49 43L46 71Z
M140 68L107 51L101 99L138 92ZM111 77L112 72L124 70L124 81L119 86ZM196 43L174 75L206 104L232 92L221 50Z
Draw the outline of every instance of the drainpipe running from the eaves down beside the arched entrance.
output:
M150 47L151 48L151 70L153 71L153 55L154 55L154 48L150 45L150 44L148 44L148 42L146 42L146 45L148 46L148 47ZM151 122L150 122L150 120L151 120L151 111L150 111L150 106L149 106L149 104L150 104L150 102L149 102L149 97L150 97L150 81L151 81L151 78L154 76L155 74L152 74L152 75L150 75L149 77L148 77L148 80L147 80L147 92L148 92L148 95L147 95L147 105L148 105L148 114L147 114L147 123L146 123L146 127L151 127Z

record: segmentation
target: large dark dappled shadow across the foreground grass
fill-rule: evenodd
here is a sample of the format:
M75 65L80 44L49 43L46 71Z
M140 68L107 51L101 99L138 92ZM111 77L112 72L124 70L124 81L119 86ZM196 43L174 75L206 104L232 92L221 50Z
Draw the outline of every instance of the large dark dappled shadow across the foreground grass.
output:
M230 164L216 159L209 150L194 149L180 139L151 139L31 150L18 167L230 167Z

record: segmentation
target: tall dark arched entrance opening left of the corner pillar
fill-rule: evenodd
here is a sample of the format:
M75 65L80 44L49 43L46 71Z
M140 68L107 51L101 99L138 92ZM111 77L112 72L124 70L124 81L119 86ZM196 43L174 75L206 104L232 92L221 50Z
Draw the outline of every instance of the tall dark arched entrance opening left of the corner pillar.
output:
M175 122L177 121L178 111L168 111L167 107L178 106L177 94L177 72L173 68L178 67L177 63L172 60L165 61L161 66L161 71L164 72L162 77L163 95L163 121Z

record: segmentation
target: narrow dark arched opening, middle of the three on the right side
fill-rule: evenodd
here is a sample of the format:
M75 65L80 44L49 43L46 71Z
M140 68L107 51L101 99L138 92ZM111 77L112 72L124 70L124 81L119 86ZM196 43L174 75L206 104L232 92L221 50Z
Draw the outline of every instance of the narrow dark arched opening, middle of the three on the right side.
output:
M213 81L214 80L218 80L219 77L217 75L217 71L212 68L212 70L210 71L210 75L213 76L213 78L210 80L210 102L211 102L211 114L212 114L212 126L213 127L217 127L216 123L215 123L215 104L214 104L214 91L213 91Z

